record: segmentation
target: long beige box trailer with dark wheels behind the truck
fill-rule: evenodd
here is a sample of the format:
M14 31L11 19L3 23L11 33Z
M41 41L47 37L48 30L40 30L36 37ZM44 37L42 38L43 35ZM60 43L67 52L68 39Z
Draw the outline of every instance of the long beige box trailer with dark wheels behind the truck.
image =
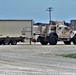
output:
M0 45L16 45L32 38L32 20L0 20Z

